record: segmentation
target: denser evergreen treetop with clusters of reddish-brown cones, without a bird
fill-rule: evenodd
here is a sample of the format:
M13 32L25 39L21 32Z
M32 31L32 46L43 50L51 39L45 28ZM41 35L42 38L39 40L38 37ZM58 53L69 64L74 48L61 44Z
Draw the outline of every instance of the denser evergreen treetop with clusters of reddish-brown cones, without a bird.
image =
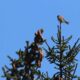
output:
M41 67L43 52L40 45L45 40L42 38L43 29L35 33L34 41L30 44L26 41L25 50L16 52L18 59L13 59L10 56L11 68L6 65L2 68L6 80L43 80L45 76L38 70Z

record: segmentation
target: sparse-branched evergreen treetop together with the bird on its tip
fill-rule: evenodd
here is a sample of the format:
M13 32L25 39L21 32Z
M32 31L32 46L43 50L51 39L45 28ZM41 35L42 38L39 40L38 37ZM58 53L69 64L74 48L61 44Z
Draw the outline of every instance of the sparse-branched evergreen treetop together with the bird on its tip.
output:
M53 41L53 47L51 48L48 43L48 49L46 51L46 58L50 62L50 64L55 64L57 69L57 73L53 74L52 80L73 80L73 78L77 78L75 75L75 71L77 68L77 59L76 55L80 51L80 43L78 39L73 46L69 45L69 41L72 36L69 36L67 39L62 35L62 23L69 24L67 21L64 21L64 18L60 15L57 16L59 25L57 32L57 39L53 36L51 40Z

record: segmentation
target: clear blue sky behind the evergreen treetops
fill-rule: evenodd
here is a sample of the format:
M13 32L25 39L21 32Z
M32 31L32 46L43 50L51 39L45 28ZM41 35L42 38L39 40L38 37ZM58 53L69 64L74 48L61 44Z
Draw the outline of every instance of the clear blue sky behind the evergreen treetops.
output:
M69 21L69 25L62 25L62 33L65 38L73 35L73 44L80 37L80 0L0 0L0 76L3 74L2 66L10 66L6 56L15 58L15 52L20 48L24 50L25 41L32 42L38 29L44 29L43 36L52 44L51 36L57 33L57 15ZM49 71L49 75L55 72L53 65L49 66L47 60L43 62L42 71ZM5 79L0 77L0 80Z

